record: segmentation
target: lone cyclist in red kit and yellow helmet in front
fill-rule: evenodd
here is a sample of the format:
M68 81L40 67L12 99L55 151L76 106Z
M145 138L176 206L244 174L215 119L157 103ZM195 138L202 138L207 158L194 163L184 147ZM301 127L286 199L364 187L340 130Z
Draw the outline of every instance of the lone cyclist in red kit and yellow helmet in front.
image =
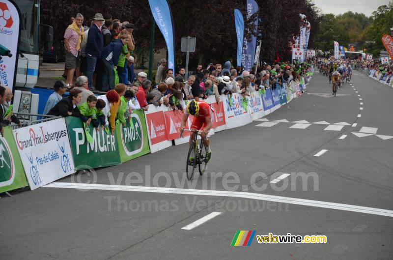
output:
M209 133L210 128L212 127L211 113L210 113L210 105L204 101L191 101L187 105L187 109L184 111L183 119L181 121L181 129L180 132L183 134L184 128L186 127L186 122L189 115L194 116L194 120L191 124L191 130L200 130L200 137L202 138L203 144L206 146L206 160L210 161L212 151L210 150L210 140L207 139L207 134ZM190 141L194 139L195 132L191 132Z

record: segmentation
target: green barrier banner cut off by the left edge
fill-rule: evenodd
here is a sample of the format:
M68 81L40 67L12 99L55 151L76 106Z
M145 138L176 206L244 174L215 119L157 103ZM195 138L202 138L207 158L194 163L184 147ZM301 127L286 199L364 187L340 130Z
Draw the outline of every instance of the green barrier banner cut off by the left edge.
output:
M4 127L0 135L0 193L28 186L25 170L12 135L11 127Z

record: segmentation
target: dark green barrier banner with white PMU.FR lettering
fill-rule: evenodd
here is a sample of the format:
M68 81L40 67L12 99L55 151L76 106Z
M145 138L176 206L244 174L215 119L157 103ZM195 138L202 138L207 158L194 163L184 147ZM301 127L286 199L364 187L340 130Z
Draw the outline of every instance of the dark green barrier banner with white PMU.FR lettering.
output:
M90 135L93 141L88 143L80 118L67 116L65 122L77 170L121 164L116 132L112 136L111 133L105 133L101 126L99 131L96 131L90 124Z

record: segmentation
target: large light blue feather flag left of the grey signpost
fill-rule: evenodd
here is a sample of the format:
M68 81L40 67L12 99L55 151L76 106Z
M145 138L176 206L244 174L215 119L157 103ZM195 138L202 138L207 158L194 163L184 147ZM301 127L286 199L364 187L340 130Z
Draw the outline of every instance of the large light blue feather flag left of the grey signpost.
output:
M151 13L164 36L168 49L168 68L174 69L175 43L172 12L167 0L149 0Z

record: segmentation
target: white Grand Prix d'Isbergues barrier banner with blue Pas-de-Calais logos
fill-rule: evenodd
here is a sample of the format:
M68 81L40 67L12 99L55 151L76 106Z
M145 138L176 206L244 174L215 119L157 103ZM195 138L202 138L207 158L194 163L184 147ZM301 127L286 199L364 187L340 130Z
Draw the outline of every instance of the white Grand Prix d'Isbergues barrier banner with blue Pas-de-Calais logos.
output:
M64 118L12 131L31 190L75 173Z

